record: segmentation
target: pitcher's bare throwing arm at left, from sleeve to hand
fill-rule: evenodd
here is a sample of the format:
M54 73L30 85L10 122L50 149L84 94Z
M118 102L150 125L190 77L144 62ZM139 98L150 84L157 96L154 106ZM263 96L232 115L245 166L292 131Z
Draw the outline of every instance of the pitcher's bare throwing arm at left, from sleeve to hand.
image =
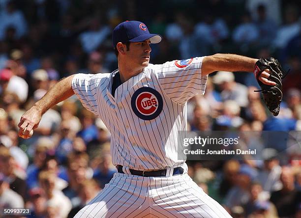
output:
M50 108L69 98L74 94L71 82L74 75L60 80L52 86L49 91L37 101L28 111L26 111L18 124L18 135L23 138L30 137L30 131L38 127L42 115ZM26 129L26 131L24 131Z

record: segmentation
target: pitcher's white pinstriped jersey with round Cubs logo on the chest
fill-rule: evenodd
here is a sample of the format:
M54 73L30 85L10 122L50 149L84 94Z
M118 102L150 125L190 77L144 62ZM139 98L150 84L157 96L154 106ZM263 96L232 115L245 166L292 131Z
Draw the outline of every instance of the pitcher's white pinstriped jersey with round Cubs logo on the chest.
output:
M179 166L178 131L187 127L187 100L205 93L203 57L149 64L112 96L111 74L77 74L72 89L111 132L113 164L137 170Z

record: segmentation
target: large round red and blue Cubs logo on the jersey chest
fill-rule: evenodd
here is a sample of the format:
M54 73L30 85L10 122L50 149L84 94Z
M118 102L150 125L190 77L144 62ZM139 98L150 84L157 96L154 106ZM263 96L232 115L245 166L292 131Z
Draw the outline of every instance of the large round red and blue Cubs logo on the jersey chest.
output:
M150 87L142 87L134 92L131 99L134 113L143 120L156 118L163 109L160 93Z

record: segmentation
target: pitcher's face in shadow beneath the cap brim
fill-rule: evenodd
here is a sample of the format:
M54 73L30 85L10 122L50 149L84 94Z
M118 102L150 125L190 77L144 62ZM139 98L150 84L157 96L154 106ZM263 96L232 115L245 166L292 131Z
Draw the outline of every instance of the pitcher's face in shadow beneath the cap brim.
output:
M128 59L133 67L145 68L149 65L151 55L151 41L131 42L129 51L127 51Z

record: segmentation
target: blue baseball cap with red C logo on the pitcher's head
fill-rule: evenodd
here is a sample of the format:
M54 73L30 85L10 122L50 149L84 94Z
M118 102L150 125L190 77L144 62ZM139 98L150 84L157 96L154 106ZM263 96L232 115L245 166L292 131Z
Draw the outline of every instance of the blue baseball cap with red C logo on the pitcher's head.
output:
M147 39L150 39L151 43L159 43L162 36L151 34L148 27L140 21L124 21L114 28L112 35L114 48L119 42L143 42Z

